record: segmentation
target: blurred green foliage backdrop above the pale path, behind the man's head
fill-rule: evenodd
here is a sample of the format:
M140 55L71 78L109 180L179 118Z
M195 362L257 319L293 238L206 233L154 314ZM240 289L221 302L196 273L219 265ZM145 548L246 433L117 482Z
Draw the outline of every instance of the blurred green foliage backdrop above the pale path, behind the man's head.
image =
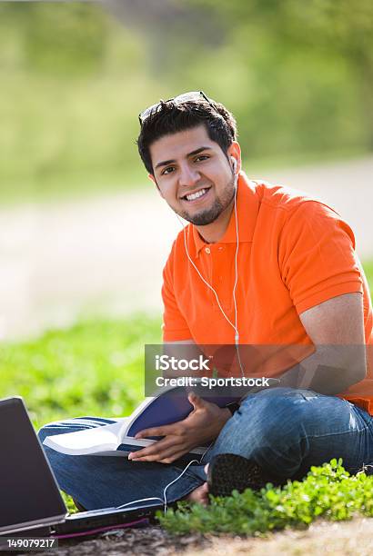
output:
M204 89L247 165L373 149L373 3L0 4L2 200L146 183L137 114Z

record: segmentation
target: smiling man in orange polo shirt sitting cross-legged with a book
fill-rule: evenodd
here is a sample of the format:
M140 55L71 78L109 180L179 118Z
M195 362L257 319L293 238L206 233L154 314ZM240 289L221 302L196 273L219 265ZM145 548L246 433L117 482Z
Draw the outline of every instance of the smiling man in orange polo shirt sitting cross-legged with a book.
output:
M140 126L149 177L189 222L164 270L167 349L282 346L266 367L279 387L249 393L233 414L191 394L186 420L142 432L164 438L125 463L47 450L61 488L86 509L163 498L167 485L168 501L207 501L208 490L301 478L333 457L350 472L373 462L372 307L348 224L303 194L248 180L232 114L203 93L151 106ZM304 352L290 363L292 346ZM103 422L55 423L40 436ZM179 458L203 442L212 449L180 476Z

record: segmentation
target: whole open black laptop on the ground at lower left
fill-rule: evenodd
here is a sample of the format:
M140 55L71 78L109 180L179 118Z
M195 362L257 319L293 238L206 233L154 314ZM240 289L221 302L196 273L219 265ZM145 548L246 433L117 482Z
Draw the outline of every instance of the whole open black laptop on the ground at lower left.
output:
M107 531L145 523L161 508L159 502L146 502L69 515L25 403L20 397L0 400L0 535L33 530L63 537Z

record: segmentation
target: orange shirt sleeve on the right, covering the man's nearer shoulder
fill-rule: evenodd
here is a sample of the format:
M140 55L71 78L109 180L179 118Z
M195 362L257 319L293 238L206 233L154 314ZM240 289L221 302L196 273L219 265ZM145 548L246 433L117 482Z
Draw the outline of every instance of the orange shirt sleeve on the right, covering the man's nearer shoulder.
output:
M354 234L325 204L306 201L288 217L278 262L298 314L344 293L363 293Z

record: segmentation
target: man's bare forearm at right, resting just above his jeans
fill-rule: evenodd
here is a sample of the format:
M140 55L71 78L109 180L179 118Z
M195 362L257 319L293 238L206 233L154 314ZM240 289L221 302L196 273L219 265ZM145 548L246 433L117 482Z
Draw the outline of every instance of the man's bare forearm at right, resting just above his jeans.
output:
M366 375L364 345L321 345L316 352L284 372L279 386L338 394Z

